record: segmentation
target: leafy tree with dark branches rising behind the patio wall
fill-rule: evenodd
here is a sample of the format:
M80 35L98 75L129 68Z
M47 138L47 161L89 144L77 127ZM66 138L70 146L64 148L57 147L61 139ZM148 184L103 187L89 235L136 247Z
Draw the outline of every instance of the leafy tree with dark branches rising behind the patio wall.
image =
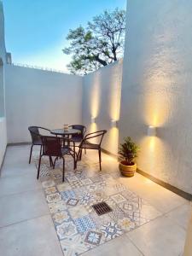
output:
M69 30L69 47L63 49L72 55L67 65L71 73L86 74L107 66L123 56L125 41L125 10L105 10L97 15L86 28Z

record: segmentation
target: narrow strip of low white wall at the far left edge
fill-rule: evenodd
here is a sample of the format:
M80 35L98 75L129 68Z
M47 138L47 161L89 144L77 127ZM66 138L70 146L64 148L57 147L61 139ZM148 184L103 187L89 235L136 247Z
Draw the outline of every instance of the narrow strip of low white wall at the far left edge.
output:
M7 146L6 119L0 118L0 166L3 163L3 156Z

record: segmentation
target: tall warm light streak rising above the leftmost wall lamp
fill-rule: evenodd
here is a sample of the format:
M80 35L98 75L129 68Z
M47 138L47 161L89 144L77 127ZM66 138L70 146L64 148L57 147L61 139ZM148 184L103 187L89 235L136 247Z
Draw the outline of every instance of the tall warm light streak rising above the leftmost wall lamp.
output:
M100 73L96 72L93 78L93 87L90 93L90 114L91 117L96 118L99 113L101 96L101 80Z

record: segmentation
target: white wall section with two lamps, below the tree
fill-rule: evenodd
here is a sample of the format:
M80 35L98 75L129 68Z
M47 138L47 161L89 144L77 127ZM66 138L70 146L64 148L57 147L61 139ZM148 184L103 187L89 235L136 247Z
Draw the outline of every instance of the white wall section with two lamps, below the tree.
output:
M111 127L111 119L119 120L121 79L122 61L84 76L83 123L88 132L108 130L102 148L113 154L117 154L119 130Z

